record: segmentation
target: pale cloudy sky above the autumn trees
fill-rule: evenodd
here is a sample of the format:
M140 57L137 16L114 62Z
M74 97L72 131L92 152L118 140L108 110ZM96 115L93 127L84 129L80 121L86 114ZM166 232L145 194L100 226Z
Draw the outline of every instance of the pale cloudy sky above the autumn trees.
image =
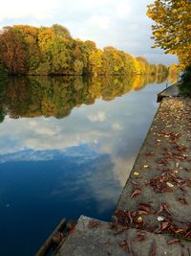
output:
M177 58L152 49L152 20L146 6L152 0L6 0L0 5L0 28L13 24L61 24L74 38L93 40L98 48L114 46L152 63L171 64Z

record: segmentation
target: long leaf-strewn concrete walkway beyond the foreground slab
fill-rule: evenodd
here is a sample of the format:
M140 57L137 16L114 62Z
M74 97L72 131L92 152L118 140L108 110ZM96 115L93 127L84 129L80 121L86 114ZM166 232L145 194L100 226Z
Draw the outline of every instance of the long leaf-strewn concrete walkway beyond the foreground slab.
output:
M117 203L115 220L191 239L190 100L162 101Z

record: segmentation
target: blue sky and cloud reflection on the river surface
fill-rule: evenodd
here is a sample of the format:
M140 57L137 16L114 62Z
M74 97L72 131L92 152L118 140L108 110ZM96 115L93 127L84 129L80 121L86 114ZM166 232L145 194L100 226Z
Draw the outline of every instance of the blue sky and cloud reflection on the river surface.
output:
M0 247L33 255L61 218L109 221L151 125L150 84L113 101L74 107L63 119L11 119L0 125Z

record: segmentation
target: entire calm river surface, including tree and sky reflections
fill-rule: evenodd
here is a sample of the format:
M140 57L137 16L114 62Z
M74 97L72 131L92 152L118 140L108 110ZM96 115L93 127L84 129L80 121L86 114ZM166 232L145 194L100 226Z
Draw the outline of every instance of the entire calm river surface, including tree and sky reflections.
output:
M110 221L165 83L15 78L0 85L1 255L33 255L62 218Z

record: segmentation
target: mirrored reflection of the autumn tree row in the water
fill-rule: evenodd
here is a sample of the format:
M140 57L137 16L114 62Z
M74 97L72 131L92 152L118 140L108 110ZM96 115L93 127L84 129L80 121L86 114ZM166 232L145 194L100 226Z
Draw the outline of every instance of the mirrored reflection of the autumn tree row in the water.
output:
M11 118L54 116L63 118L74 106L93 105L96 99L114 100L166 76L137 77L20 77L0 81L0 122Z

